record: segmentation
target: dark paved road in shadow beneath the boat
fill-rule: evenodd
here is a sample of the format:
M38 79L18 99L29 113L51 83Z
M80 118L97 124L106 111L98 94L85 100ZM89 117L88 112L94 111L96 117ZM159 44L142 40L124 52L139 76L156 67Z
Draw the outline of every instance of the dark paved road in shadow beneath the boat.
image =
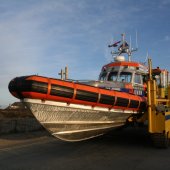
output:
M0 145L0 170L170 170L170 148L152 147L143 129L114 131L77 143L44 132L0 138L15 141Z

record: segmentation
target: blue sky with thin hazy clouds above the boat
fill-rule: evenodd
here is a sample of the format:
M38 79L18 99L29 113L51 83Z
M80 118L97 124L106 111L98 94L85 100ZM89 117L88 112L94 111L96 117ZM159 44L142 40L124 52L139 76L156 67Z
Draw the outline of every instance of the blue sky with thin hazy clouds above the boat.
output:
M0 106L17 101L11 79L38 74L97 80L113 60L108 44L125 33L132 59L170 66L170 0L0 0Z

